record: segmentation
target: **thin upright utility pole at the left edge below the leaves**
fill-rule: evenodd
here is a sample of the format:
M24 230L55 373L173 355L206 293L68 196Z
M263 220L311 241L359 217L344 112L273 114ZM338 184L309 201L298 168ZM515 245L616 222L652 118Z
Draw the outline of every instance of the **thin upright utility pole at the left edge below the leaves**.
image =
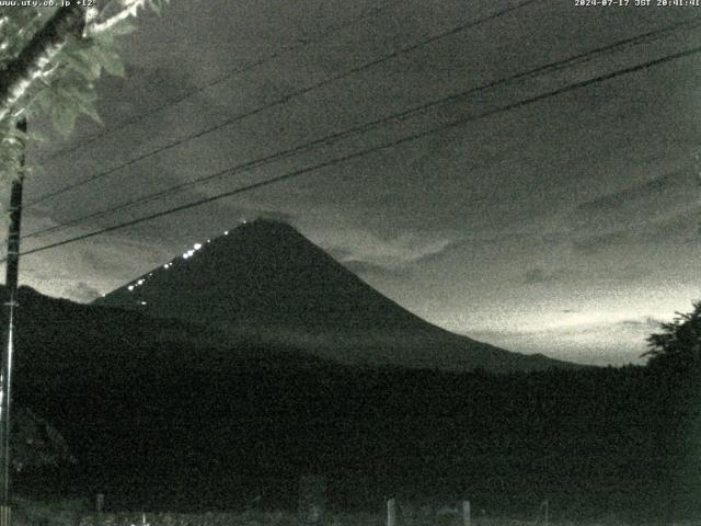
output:
M18 123L18 129L26 134L26 119ZM0 526L12 523L10 507L10 402L12 379L12 353L14 351L15 309L18 307L18 277L20 272L20 225L22 221L22 185L24 183L25 148L20 159L20 173L12 181L10 195L10 231L8 233L8 259L5 288L8 294L7 327L0 368Z

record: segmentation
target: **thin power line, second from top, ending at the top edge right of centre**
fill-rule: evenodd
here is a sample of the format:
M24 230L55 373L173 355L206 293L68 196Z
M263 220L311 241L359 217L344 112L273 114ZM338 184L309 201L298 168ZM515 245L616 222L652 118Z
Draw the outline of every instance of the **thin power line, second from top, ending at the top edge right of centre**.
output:
M311 91L314 91L314 90L317 90L319 88L322 88L324 85L331 84L331 83L333 83L333 82L335 82L337 80L341 80L341 79L344 79L344 78L349 77L352 75L358 73L360 71L365 71L367 69L370 69L370 68L372 68L372 67L375 67L375 66L377 66L379 64L386 62L387 60L395 58L395 57L398 57L400 55L403 55L403 54L406 54L406 53L411 53L412 50L418 49L418 48L421 48L423 46L426 46L426 45L428 45L428 44L430 44L433 42L436 42L438 39L445 38L447 36L455 35L457 33L460 33L460 32L466 31L468 28L474 27L474 26L476 26L479 24L482 24L484 22L497 19L497 18L503 16L503 15L505 15L505 14L512 12L512 11L515 11L515 10L518 10L518 9L522 9L522 8L525 8L525 7L527 7L527 5L531 4L531 3L539 2L539 1L541 1L541 0L525 0L525 1L520 2L517 5L512 5L509 8L505 8L503 10L501 10L501 11L497 11L496 13L490 14L487 16L483 16L481 19L478 19L475 21L469 22L467 24L459 25L459 26L453 27L453 28L451 28L449 31L446 31L444 33L439 33L439 34L429 36L429 37L424 38L423 41L421 41L421 42L418 42L416 44L412 44L411 46L403 47L403 48L394 50L394 52L392 52L390 54L383 55L383 56L381 56L379 58L376 58L376 59L374 59L374 60L371 60L369 62L366 62L364 65L360 65L360 66L357 66L355 68L352 68L352 69L349 69L349 70L347 70L347 71L345 71L343 73L338 73L338 75L329 77L329 78L326 78L326 79L324 79L324 80L322 80L320 82L317 82L314 84L308 85L308 87L302 88L302 89L299 89L299 90L294 91L294 92L291 92L291 93L289 93L287 95L284 95L280 99L277 99L277 100L275 100L275 101L273 101L271 103L264 104L262 106L258 106L258 107L256 107L254 110L251 110L251 111L248 111L245 113L241 113L241 114L234 115L234 116L232 116L230 118L227 118L226 121L223 121L223 122L221 122L219 124L216 124L214 126L205 128L205 129L203 129L200 132L197 132L197 133L188 135L186 137L182 137L180 139L173 140L173 141L171 141L171 142L169 142L166 145L163 145L161 147L154 148L154 149L150 150L149 152L142 153L142 155L138 156L138 157L135 157L135 158L130 159L129 161L126 161L126 162L124 162L122 164L118 164L116 167L110 168L110 169L104 170L102 172L97 172L97 173L95 173L93 175L90 175L90 176L88 176L85 179L82 179L82 180L77 181L77 182L74 182L72 184L64 186L62 188L59 188L59 190L56 190L54 192L49 192L47 194L44 194L44 195L37 197L36 199L28 202L25 205L25 208L30 208L30 207L32 207L34 205L37 205L38 203L42 203L42 202L44 202L46 199L49 199L49 198L55 197L57 195L64 194L66 192L69 192L71 190L80 187L80 186L82 186L84 184L88 184L88 183L91 183L93 181L96 181L99 179L103 179L103 178L105 178L107 175L111 175L111 174L113 174L113 173L115 173L115 172L117 172L119 170L123 170L123 169L125 169L127 167L136 164L137 162L142 161L143 159L152 157L152 156L154 156L157 153L160 153L162 151L170 150L172 148L175 148L176 146L184 145L186 142L189 142L191 140L197 139L197 138L203 137L203 136L205 136L207 134L210 134L212 132L217 132L217 130L219 130L221 128L230 126L230 125L232 125L232 124L234 124L234 123L237 123L239 121L242 121L242 119L244 119L246 117L251 117L251 116L257 115L260 113L263 113L264 111L269 110L272 107L279 106L281 104L286 104L292 98L301 96L301 95L307 94L307 93L309 93Z

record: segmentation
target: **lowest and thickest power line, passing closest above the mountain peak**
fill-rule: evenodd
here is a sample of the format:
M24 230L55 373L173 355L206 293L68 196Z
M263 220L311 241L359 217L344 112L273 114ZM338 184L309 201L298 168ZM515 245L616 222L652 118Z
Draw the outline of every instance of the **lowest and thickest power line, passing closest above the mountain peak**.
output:
M148 216L142 216L142 217L139 217L139 218L136 218L136 219L131 219L129 221L125 221L125 222L120 222L120 224L117 224L117 225L113 225L111 227L106 227L106 228L103 228L103 229L100 229L100 230L95 230L93 232L84 233L84 235L81 235L81 236L76 236L73 238L69 238L69 239L66 239L66 240L62 240L62 241L57 241L55 243L46 244L44 247L38 247L36 249L27 250L27 251L22 252L21 255L28 255L28 254L34 254L34 253L37 253L37 252L43 252L43 251L46 251L46 250L49 250L49 249L55 249L57 247L62 247L65 244L73 243L73 242L77 242L77 241L82 241L84 239L93 238L95 236L101 236L103 233L107 233L107 232L119 230L119 229L123 229L123 228L126 228L126 227L138 225L140 222L149 221L151 219L157 219L159 217L169 216L169 215L177 213L177 211L183 211L183 210L187 210L189 208L195 208L197 206L202 206L202 205L205 205L205 204L208 204L208 203L212 203L215 201L219 201L219 199L222 199L225 197L231 197L231 196L237 195L237 194L242 194L244 192L250 192L250 191L263 187L263 186L268 186L268 185L272 185L272 184L276 184L276 183L279 183L281 181L287 181L287 180L291 180L291 179L295 179L295 178L299 178L301 175L314 172L317 170L321 170L321 169L324 169L324 168L330 168L330 167L333 167L335 164L340 164L340 163L343 163L343 162L350 161L353 159L358 159L358 158L365 157L365 156L367 156L369 153L375 153L375 152L378 152L378 151L382 151L382 150L387 150L387 149L390 149L390 148L394 148L394 147L397 147L399 145L411 142L413 140L417 140L417 139L427 137L429 135L434 135L434 134L439 133L439 132L445 132L447 129L457 128L459 126L463 126L466 124L472 123L472 122L481 119L481 118L486 118L486 117L491 117L491 116L494 116L494 115L498 115L501 113L505 113L505 112L508 112L508 111L512 111L512 110L516 110L516 108L524 107L524 106L527 106L527 105L530 105L530 104L535 104L537 102L544 101L544 100L550 99L552 96L561 95L561 94L567 93L570 91L579 90L582 88L586 88L586 87L589 87L589 85L593 85L593 84L596 84L596 83L599 83L599 82L605 82L607 80L611 80L611 79L614 79L617 77L621 77L623 75L630 75L630 73L633 73L633 72L643 71L645 69L650 69L652 67L659 66L662 64L669 62L671 60L676 60L676 59L679 59L679 58L683 58L683 57L688 57L688 56L691 56L691 55L696 55L698 53L701 53L701 46L693 47L691 49L679 52L679 53L676 53L676 54L673 54L673 55L667 55L665 57L657 58L657 59L654 59L654 60L648 60L646 62L642 62L642 64L639 64L636 66L631 66L629 68L620 69L618 71L613 71L613 72L610 72L610 73L606 73L606 75L601 75L601 76L598 76L598 77L594 77L591 79L583 80L581 82L576 82L576 83L573 83L573 84L570 84L570 85L565 85L565 87L560 88L558 90L549 91L547 93L541 93L539 95L535 95L535 96L531 96L529 99L525 99L525 100L521 100L521 101L518 101L518 102L514 102L514 103L510 103L510 104L507 104L507 105L504 105L504 106L501 106L501 107L497 107L497 108L494 108L494 110L489 110L489 111L480 113L478 115L473 115L473 116L470 116L470 117L463 117L463 118L460 118L458 121L453 121L452 123L448 123L448 124L445 124L445 125L441 125L441 126L438 126L438 127L434 127L434 128L430 128L430 129L427 129L427 130L424 130L424 132L420 132L420 133L416 133L416 134L413 134L413 135L410 135L410 136L406 136L406 137L402 137L401 139L397 139L397 140L390 141L390 142L386 142L383 145L374 146L374 147L367 148L365 150L359 150L359 151L356 151L356 152L353 152L353 153L341 156L341 157L337 157L337 158L321 162L319 164L314 164L312 167L303 168L303 169L300 169L300 170L295 170L292 172L288 172L286 174L278 175L276 178L267 179L265 181L260 181L257 183L249 184L249 185L245 185L245 186L240 186L238 188L234 188L234 190L231 190L231 191L228 191L228 192L223 192L223 193L210 196L210 197L205 197L205 198L202 198L202 199L197 199L197 201L194 201L194 202L191 202L191 203L186 203L184 205L175 206L175 207L162 210L162 211L150 214ZM0 260L0 262L3 262L3 261L5 261L5 260L4 259Z

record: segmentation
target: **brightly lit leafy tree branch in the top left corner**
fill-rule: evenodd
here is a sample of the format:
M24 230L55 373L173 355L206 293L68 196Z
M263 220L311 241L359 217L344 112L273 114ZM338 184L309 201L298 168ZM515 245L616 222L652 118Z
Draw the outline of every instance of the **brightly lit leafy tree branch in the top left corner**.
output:
M100 11L74 3L72 8L0 8L0 84L13 82L7 90L10 96L0 101L0 182L16 176L23 144L38 138L31 126L30 137L18 130L18 119L47 115L65 136L80 115L100 122L95 81L103 71L124 75L119 37L134 31L130 20L140 10L160 12L166 1L112 0ZM80 31L56 23L65 14L60 11L68 9L80 10L76 11L83 19ZM35 53L27 54L30 47Z

